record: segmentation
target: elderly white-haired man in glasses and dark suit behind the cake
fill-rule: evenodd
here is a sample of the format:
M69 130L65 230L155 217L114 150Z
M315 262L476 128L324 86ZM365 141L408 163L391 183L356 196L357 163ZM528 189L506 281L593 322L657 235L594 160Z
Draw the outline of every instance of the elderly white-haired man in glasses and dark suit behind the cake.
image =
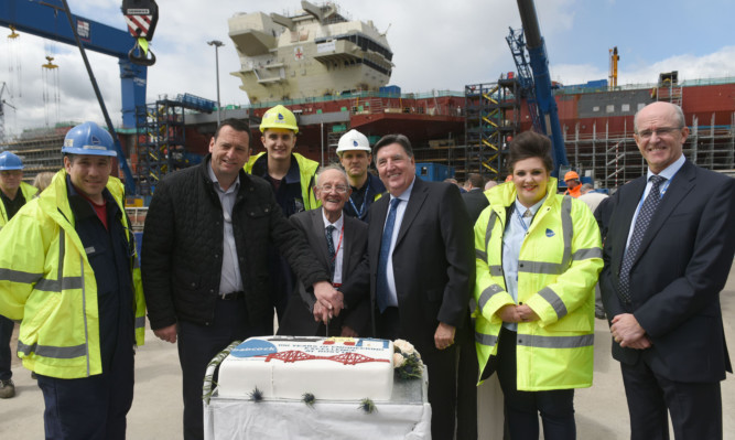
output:
M335 287L354 273L367 251L367 224L357 217L343 215L350 195L347 174L338 165L329 165L316 174L314 193L322 207L294 214L289 218L304 235ZM366 290L367 291L367 290ZM328 326L315 319L327 313ZM298 336L358 336L369 332L370 303L366 298L354 309L328 320L328 309L322 308L312 288L298 281L289 300L279 334Z

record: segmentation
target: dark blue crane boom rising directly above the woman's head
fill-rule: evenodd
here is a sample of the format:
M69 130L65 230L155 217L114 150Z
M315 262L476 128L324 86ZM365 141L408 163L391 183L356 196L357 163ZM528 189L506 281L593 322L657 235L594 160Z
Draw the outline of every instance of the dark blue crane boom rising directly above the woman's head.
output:
M551 137L554 160L552 175L558 176L560 167L569 167L569 161L559 122L559 108L551 88L547 45L541 36L533 0L518 0L518 11L523 32L510 29L510 35L506 41L518 68L519 82L529 105L533 128Z

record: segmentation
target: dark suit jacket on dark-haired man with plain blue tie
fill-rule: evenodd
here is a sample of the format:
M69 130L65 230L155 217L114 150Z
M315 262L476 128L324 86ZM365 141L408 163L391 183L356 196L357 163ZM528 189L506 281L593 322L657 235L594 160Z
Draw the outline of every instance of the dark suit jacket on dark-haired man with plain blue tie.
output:
M390 197L383 196L370 208L368 258L360 266L369 277L363 272L343 286L345 301L352 303L369 282L374 312L380 239L389 202ZM457 332L465 326L475 282L473 229L456 185L415 178L392 261L400 335L421 353L435 351L434 333L440 321L454 325Z

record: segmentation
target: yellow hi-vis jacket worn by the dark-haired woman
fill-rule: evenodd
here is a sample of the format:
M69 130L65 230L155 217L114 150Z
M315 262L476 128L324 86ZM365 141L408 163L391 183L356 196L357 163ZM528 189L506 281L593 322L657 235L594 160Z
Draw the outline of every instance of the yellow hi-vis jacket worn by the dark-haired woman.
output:
M583 202L556 195L555 189L552 178L518 261L518 301L540 318L518 323L517 383L525 391L592 386L593 292L603 268L599 230ZM516 187L500 184L488 198L490 205L475 224L475 345L480 373L497 355L502 321L496 312L515 303L506 291L502 236Z

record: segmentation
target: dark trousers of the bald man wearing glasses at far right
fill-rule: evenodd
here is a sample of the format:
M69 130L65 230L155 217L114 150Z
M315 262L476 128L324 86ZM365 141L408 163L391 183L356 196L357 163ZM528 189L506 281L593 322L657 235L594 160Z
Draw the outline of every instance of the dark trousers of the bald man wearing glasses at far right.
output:
M720 382L681 383L653 373L640 359L620 364L630 414L631 440L669 439L669 421L677 439L722 439Z

